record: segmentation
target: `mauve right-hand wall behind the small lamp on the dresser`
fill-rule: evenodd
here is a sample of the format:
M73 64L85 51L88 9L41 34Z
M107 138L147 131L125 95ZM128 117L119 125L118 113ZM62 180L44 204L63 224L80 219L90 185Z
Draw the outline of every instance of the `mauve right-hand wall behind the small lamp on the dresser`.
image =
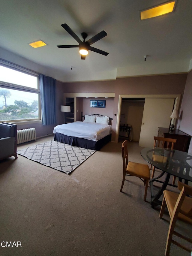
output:
M192 136L192 71L187 75L177 129ZM192 140L188 152L192 154Z

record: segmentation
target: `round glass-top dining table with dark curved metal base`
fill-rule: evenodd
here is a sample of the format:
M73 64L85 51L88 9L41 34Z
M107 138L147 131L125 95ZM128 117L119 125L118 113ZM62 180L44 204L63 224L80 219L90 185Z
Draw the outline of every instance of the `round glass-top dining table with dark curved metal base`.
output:
M141 156L149 164L162 170L158 177L150 180L152 207L161 205L162 201L159 198L167 185L172 185L169 184L171 175L178 177L181 182L184 180L185 184L192 181L192 154L175 149L147 147L141 150ZM165 179L162 181L161 177L164 175ZM153 182L155 181L163 184L156 194L154 194L153 189Z

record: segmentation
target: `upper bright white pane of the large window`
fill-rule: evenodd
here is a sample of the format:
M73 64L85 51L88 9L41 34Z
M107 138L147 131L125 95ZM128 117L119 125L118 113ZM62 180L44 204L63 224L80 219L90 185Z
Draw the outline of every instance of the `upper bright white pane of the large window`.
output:
M37 76L0 65L0 81L38 89Z

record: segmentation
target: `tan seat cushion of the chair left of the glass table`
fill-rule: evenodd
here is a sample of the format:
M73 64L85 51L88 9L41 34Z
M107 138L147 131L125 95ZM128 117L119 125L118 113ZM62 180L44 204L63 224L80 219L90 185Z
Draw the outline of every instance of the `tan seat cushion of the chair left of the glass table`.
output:
M128 162L127 171L133 176L140 176L143 179L150 179L150 170L147 164Z

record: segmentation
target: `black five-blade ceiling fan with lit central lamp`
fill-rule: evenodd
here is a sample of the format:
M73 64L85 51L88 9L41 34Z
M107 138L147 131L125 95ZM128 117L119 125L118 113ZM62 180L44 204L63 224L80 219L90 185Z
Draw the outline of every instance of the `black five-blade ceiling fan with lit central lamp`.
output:
M100 33L98 33L97 35L93 36L92 38L90 38L88 41L85 42L85 39L87 38L87 33L83 32L81 33L81 36L83 38L83 41L81 41L81 39L73 32L72 29L70 29L70 27L64 23L61 24L61 26L73 37L75 38L75 40L79 43L79 45L57 45L58 48L75 48L75 47L79 47L79 53L81 54L81 59L85 59L85 56L88 54L88 50L93 51L95 53L100 53L102 55L107 56L109 53L106 53L102 50L99 50L97 48L94 48L92 46L90 46L91 44L99 41L101 38L104 38L107 33L103 30Z

